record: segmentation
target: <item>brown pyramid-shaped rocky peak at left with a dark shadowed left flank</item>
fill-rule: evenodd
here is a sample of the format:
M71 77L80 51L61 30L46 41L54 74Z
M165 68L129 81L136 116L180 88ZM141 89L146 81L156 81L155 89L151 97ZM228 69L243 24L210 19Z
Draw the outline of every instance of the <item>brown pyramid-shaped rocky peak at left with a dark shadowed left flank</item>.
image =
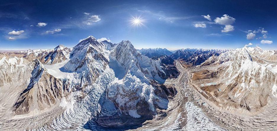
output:
M33 60L34 68L30 83L14 104L15 114L28 114L33 109L50 108L66 96L70 83L44 72L38 59Z

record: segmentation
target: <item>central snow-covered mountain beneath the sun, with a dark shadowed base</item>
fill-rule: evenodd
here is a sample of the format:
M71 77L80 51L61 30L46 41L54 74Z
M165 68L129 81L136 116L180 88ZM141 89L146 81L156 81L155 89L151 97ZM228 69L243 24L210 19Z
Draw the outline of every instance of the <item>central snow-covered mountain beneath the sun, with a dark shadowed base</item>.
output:
M109 56L109 65L118 77L106 89L106 95L107 99L114 103L118 114L113 114L112 117L101 114L98 120L100 125L110 127L117 121L117 126L130 125L130 122L126 123L127 118L146 120L157 114L156 108L167 109L168 96L174 96L174 93L170 94L169 90L163 90L163 86L151 81L165 81L166 74L158 61L141 55L130 41L116 44ZM117 71L124 75L119 75ZM109 122L104 122L107 117L109 120L106 121Z

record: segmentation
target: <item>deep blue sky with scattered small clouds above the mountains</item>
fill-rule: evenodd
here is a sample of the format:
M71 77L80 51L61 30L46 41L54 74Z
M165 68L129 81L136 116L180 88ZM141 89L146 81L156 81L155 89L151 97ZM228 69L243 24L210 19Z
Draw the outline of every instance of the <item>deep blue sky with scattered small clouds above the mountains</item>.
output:
M250 42L277 49L276 6L253 0L1 0L0 50L71 48L90 35L112 43L130 40L137 49L229 49ZM208 14L210 19L202 16ZM131 26L136 16L144 26Z

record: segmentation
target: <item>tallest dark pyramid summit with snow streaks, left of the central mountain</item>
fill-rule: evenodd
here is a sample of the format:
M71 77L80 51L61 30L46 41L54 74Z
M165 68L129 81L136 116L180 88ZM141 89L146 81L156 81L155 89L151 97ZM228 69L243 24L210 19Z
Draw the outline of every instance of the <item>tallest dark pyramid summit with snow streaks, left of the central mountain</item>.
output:
M73 47L70 60L62 67L62 70L81 73L81 87L85 84L92 84L100 73L104 72L109 62L104 52L104 45L90 36Z

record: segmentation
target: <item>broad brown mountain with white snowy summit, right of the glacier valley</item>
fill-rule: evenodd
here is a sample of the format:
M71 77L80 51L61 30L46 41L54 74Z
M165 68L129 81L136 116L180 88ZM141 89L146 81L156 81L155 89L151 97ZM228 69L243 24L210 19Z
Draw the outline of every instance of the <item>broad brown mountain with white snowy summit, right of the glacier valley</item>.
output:
M247 48L211 57L202 63L205 65L212 66L213 70L194 72L192 83L220 108L251 114L270 105L268 102L273 99L271 92L277 83L277 74L253 61Z

